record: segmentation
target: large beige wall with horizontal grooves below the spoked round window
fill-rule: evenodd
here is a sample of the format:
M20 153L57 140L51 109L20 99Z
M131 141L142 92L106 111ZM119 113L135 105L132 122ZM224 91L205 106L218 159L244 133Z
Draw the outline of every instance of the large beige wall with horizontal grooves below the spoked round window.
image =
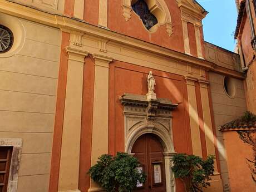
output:
M0 137L23 139L17 191L46 192L61 32L15 19L23 24L26 40L16 55L0 58Z

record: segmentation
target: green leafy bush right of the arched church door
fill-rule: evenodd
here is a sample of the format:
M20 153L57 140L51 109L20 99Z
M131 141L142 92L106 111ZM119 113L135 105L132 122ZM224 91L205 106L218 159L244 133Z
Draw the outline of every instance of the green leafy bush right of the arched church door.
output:
M203 160L199 156L176 154L173 156L174 166L171 168L175 178L183 181L186 192L203 191L210 186L210 176L214 174L213 155Z

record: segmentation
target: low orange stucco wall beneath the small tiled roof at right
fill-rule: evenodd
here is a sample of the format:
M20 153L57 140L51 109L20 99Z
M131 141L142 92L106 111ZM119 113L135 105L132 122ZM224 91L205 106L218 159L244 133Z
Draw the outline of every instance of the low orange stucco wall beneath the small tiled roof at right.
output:
M236 131L224 132L224 144L227 149L227 161L231 191L253 192L255 183L245 158L252 159L253 150L239 139Z

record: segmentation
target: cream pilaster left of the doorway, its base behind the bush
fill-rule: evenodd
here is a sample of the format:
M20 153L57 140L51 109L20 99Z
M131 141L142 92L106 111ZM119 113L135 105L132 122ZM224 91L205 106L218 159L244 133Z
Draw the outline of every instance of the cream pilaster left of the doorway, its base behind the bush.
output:
M91 165L99 156L109 152L109 63L112 58L93 55L95 59L95 80L93 97L92 154ZM91 181L88 191L102 191Z

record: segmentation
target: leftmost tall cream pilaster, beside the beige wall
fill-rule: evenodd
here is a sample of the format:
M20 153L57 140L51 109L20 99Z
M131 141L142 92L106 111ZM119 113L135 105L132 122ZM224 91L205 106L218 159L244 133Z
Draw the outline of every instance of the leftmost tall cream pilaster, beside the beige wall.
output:
M79 192L83 65L87 52L67 47L68 71L58 191Z

